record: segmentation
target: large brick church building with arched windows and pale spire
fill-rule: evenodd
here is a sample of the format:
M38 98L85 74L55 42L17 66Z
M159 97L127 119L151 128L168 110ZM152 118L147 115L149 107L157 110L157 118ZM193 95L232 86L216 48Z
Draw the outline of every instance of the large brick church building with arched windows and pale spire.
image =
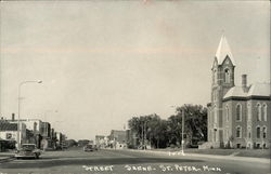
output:
M234 83L236 64L222 36L211 67L211 102L208 107L208 143L205 148L270 147L270 83Z

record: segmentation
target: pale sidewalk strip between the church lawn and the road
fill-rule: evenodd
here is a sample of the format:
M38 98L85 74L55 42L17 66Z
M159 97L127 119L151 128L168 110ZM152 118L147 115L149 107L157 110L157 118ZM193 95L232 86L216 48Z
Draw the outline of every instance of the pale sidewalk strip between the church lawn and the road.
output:
M197 157L197 158L207 158L207 159L218 159L218 160L233 160L233 161L246 161L246 162L259 162L259 163L268 163L270 164L270 159L264 158L254 158L254 157L237 157L237 156L221 156L221 155L203 155L203 153L185 153L182 156L180 151L162 151L162 150L134 150L134 149L127 149L132 151L139 152L150 152L150 153L157 153L157 155L166 155L169 157Z

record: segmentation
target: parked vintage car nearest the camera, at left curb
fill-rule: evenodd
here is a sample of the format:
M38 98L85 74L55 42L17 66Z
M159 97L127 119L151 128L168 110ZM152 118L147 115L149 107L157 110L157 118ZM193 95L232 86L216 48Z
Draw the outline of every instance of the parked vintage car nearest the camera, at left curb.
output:
M35 158L40 157L40 150L36 147L35 144L23 144L20 149L15 151L15 158Z

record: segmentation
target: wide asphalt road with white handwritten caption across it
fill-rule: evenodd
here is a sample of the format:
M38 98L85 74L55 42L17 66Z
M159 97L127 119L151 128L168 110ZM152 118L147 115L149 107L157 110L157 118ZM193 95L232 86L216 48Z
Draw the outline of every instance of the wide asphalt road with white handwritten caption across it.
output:
M270 166L257 161L206 159L128 150L81 149L48 151L38 160L22 159L0 164L4 173L63 174L269 174Z

